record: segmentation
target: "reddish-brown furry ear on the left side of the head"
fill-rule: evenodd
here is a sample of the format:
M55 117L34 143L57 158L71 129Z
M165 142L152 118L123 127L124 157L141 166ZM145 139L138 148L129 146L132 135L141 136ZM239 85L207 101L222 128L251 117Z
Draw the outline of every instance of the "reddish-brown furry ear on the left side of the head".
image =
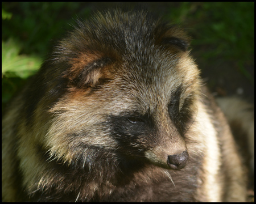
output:
M81 54L72 59L71 68L64 72L69 84L75 87L96 87L109 80L112 59L100 55Z

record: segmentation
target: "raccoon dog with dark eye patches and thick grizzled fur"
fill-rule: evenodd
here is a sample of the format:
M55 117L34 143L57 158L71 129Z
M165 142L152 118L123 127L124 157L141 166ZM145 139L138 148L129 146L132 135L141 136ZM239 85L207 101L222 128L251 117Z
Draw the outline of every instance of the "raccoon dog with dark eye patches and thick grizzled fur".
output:
M188 46L144 11L79 22L3 118L3 201L245 201Z

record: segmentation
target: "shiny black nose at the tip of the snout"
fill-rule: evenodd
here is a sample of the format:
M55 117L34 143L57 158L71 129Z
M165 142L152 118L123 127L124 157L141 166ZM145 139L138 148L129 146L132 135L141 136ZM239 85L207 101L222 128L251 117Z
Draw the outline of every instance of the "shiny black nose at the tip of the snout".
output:
M177 170L182 169L188 162L188 152L183 151L178 155L169 155L167 158L167 164L171 169Z

